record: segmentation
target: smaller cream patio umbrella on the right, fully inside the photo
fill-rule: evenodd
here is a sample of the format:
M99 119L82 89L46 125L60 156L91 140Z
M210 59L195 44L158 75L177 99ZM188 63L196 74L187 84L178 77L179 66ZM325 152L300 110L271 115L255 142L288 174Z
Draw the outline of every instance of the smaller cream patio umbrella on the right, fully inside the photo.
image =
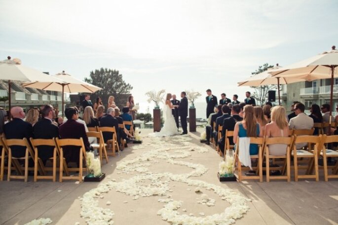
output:
M238 86L251 86L251 87L259 87L263 85L272 85L277 84L278 89L278 102L280 105L280 90L279 85L280 84L288 84L288 83L294 83L294 82L300 82L303 81L303 79L300 78L289 78L289 77L279 77L279 76L272 76L270 73L273 71L284 71L282 67L280 67L277 63L276 66L267 69L266 71L263 71L262 73L256 74L248 78L247 80L238 82Z

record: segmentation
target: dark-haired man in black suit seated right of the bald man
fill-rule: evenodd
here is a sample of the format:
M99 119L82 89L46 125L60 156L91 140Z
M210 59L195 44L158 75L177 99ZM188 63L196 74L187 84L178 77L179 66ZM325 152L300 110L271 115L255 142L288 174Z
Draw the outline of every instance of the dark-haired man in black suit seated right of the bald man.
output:
M35 139L52 139L59 137L59 128L52 123L53 107L51 105L44 105L41 109L42 119L39 120L33 127L33 134ZM53 157L54 147L39 146L38 157L46 164L48 158Z

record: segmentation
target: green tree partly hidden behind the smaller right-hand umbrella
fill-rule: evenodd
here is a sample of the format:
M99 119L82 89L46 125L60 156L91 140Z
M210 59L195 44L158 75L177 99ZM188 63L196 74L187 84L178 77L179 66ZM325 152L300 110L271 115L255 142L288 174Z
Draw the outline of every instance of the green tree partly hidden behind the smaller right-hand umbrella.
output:
M269 65L268 63L263 64L263 66L259 66L258 69L255 72L252 72L252 75L260 74L267 69L273 67L272 65ZM256 99L258 104L263 104L267 100L267 94L269 90L276 89L277 85L263 85L259 87L251 87L254 88L254 93L252 97Z

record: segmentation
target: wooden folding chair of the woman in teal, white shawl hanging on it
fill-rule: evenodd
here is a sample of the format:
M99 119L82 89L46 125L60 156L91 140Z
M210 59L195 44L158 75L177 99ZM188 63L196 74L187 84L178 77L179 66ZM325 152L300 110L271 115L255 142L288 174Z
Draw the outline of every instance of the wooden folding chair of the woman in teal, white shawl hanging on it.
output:
M237 162L237 171L238 174L235 176L237 177L238 181L241 182L242 180L255 180L259 179L260 182L263 182L263 162L262 162L262 155L263 155L263 145L264 145L264 138L256 138L256 137L250 137L250 144L257 144L258 145L258 154L257 155L250 155L250 158L257 158L257 166L252 167L253 170L256 170L256 176L246 176L242 175L242 168L241 162L239 160L239 138L237 138L237 144L236 144L236 150L235 150L235 163ZM249 168L246 168L248 170Z

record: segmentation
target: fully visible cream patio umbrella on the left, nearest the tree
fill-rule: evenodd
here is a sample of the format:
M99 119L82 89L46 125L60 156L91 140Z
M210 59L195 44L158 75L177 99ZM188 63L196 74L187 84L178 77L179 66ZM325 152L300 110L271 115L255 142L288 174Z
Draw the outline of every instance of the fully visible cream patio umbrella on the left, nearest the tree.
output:
M62 82L24 82L22 86L33 87L46 91L60 91L62 92L62 115L64 115L64 93L85 92L94 93L95 91L102 90L93 84L76 79L75 77L66 74L65 71L53 75L53 77L61 80Z

